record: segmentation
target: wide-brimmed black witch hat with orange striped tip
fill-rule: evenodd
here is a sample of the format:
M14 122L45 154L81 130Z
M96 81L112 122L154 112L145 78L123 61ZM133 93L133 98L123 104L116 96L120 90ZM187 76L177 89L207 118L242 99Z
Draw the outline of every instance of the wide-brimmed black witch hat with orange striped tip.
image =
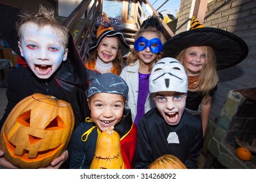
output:
M165 57L177 57L183 49L208 45L214 50L217 70L235 66L248 55L248 45L242 38L222 29L204 27L192 17L189 31L180 32L164 44Z

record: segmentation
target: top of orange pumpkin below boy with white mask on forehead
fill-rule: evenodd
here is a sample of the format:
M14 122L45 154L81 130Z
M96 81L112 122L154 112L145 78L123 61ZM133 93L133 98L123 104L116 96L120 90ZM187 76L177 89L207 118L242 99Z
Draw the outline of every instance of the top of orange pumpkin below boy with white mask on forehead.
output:
M186 166L178 157L167 154L158 157L158 159L149 165L149 169L186 169Z

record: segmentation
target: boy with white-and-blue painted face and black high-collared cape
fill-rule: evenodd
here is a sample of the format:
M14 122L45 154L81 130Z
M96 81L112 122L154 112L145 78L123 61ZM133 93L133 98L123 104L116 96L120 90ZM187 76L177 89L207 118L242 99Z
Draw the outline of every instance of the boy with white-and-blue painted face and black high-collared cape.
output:
M43 6L32 14L0 3L0 19L1 34L27 63L26 67L16 68L8 75L8 103L1 127L14 106L35 93L52 95L70 103L76 125L79 125L78 122L89 114L84 96L89 75L93 77L98 73L85 68L68 30L54 19L53 11ZM0 152L3 155L3 151ZM59 168L67 158L68 152L64 151L49 168ZM0 157L0 164L13 167L4 157Z

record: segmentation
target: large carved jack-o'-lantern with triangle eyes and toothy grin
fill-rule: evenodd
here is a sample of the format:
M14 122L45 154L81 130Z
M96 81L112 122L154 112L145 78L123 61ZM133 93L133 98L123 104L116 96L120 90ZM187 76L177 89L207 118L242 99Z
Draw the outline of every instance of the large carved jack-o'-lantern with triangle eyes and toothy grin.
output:
M12 109L1 129L5 158L19 168L48 166L68 145L74 113L66 101L33 94Z

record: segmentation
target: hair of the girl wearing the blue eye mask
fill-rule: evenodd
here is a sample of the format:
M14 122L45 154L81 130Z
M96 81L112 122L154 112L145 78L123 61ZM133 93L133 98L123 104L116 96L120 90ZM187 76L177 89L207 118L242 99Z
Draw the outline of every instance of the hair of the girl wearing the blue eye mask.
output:
M153 19L157 19L152 17ZM158 36L158 38L160 38L162 44L164 44L165 42L165 38L164 35L162 34L162 32L160 32L160 30L158 29L158 27L154 26L154 25L149 25L147 27L141 27L141 29L139 29L139 31L136 32L134 39L137 40L137 38L139 38L141 36L141 34L143 34L144 32L155 32ZM160 53L157 54L156 59L154 59L152 62L150 62L149 64L149 72L151 72L152 67L154 65L154 63L156 63L158 60L162 59L162 57L164 57L164 53L161 51ZM134 49L134 47L132 47L131 52L128 55L128 58L126 60L126 64L131 64L136 62L139 59L139 56L137 54L137 50ZM141 60L139 59L139 61L141 62Z

